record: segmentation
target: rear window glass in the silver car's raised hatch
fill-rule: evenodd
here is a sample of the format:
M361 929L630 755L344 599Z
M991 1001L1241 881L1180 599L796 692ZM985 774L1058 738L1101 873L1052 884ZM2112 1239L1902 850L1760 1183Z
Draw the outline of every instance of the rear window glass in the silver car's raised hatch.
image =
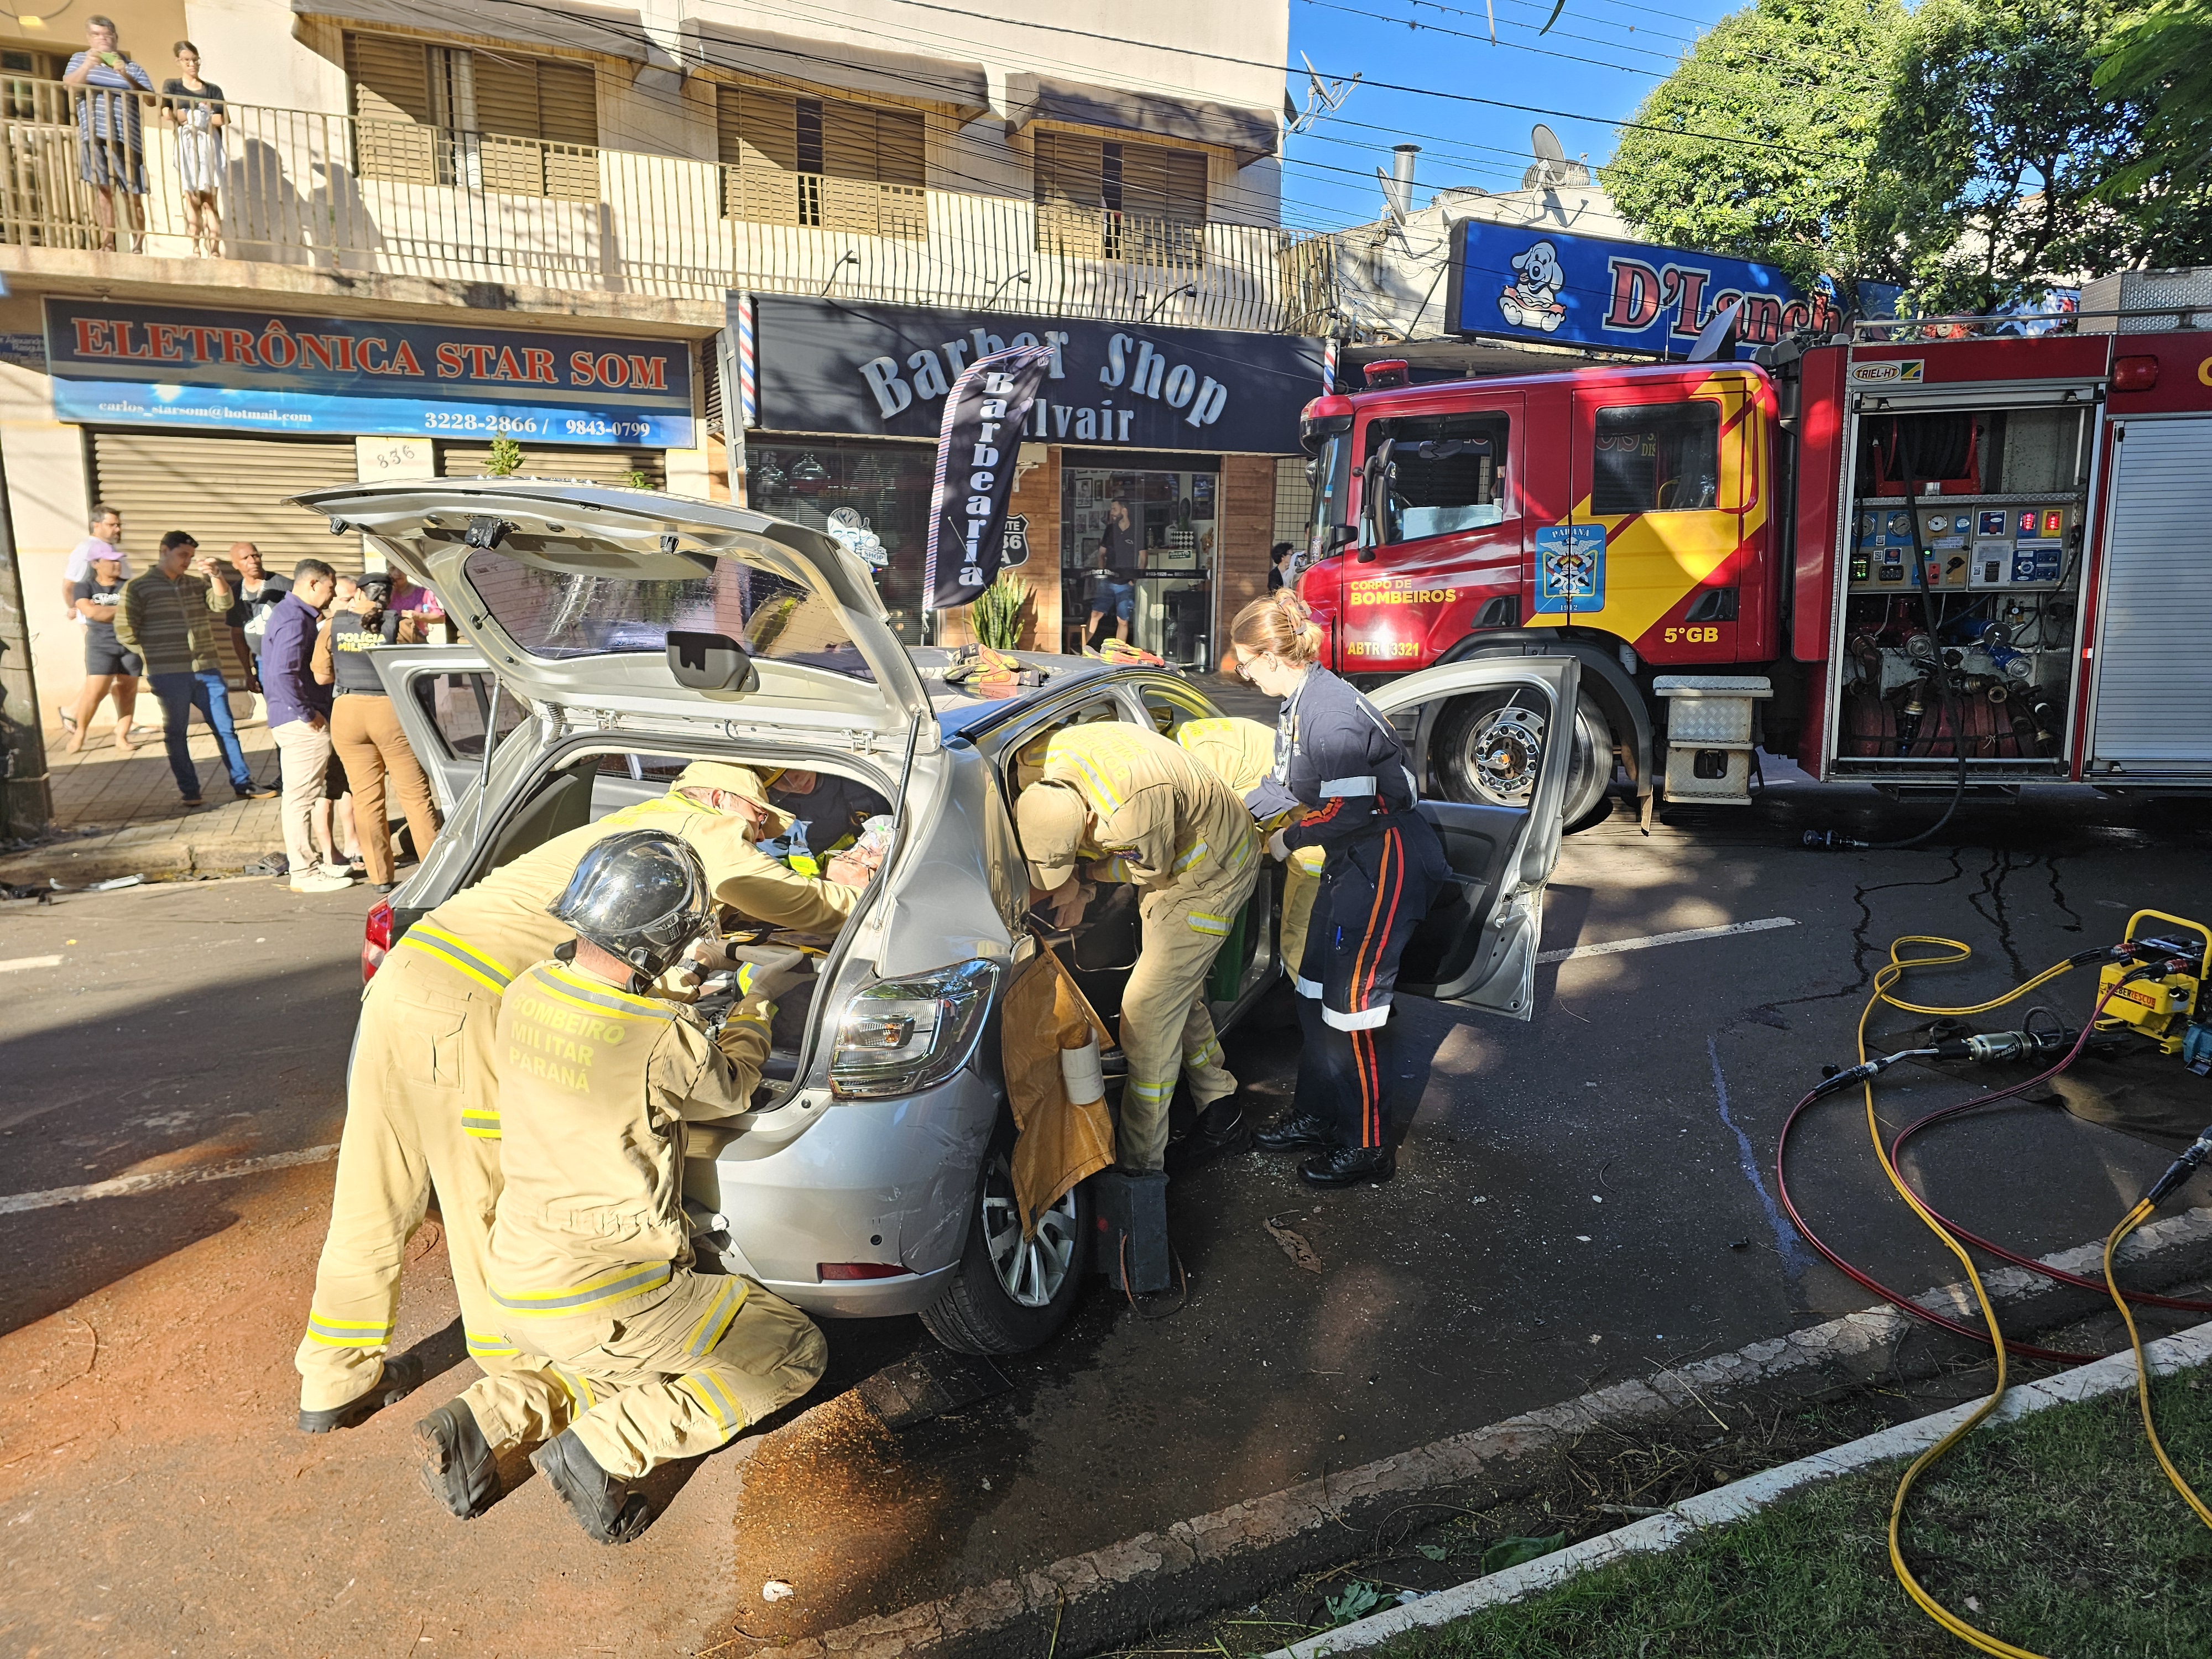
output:
M710 573L684 582L639 582L478 551L462 573L491 619L533 657L661 653L672 630L721 633L754 657L876 677L834 599L743 560L717 560Z

